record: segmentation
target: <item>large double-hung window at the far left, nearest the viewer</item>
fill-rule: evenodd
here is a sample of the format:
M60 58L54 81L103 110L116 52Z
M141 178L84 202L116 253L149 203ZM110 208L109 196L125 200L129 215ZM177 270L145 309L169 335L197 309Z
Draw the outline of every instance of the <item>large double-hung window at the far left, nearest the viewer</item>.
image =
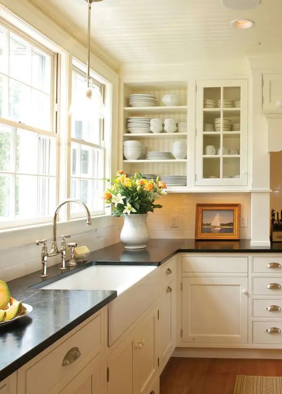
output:
M54 212L55 61L0 24L0 228L48 222Z

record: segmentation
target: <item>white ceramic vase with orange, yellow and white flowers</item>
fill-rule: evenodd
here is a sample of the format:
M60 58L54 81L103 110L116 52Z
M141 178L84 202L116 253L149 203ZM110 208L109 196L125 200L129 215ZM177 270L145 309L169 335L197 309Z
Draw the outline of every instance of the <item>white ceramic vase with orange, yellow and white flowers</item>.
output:
M154 212L162 205L155 204L155 200L166 194L166 185L159 181L146 180L137 172L134 177L127 177L123 171L118 171L111 181L110 187L104 192L106 203L113 204L112 214L124 217L124 225L120 239L127 249L146 247L150 239L146 226L147 213Z

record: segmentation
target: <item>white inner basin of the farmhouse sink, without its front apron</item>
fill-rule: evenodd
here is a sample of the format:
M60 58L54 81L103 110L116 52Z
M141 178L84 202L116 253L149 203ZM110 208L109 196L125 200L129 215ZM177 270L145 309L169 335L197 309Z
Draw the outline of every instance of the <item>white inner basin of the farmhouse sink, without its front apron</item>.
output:
M155 266L95 265L47 284L44 290L116 290L118 295L130 288Z

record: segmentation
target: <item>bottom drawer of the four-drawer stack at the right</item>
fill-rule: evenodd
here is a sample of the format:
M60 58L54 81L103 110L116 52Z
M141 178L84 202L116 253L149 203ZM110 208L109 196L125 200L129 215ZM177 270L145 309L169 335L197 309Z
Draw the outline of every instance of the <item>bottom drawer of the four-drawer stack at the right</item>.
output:
M267 330L272 330L268 333ZM281 321L254 321L253 343L282 344L282 322Z

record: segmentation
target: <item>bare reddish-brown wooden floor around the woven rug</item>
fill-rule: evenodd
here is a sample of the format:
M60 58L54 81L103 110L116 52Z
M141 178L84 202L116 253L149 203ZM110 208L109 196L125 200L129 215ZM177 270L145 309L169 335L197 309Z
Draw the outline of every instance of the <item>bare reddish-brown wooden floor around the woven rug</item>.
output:
M171 357L160 394L233 394L236 375L282 376L282 360Z

